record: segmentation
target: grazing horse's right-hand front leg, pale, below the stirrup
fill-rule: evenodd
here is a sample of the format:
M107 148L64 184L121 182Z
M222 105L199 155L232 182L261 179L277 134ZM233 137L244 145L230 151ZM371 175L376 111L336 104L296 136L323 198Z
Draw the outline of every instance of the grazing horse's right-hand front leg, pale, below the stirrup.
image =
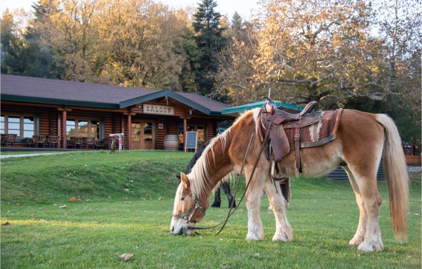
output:
M276 186L280 184L276 183ZM273 183L269 179L266 180L264 190L267 193L270 205L273 208L274 216L276 217L276 234L273 241L289 241L293 239L293 231L289 221L286 217L286 204L280 189L278 192Z

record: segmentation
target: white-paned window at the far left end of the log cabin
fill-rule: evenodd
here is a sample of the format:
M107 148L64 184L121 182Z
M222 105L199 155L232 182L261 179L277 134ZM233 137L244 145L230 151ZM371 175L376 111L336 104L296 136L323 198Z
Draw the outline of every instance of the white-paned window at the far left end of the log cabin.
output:
M32 137L35 134L35 116L2 114L1 133L16 134L16 138Z

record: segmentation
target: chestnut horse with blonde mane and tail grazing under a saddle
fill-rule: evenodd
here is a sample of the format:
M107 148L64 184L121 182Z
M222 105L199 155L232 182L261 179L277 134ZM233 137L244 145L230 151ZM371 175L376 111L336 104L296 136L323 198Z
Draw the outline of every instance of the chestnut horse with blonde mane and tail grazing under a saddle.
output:
M214 186L231 171L239 173L250 135L253 134L244 165L246 180L251 180L245 196L248 210L246 239L262 240L264 237L260 220L260 193L264 189L276 217L273 240L292 240L285 201L280 191L276 191L279 187L275 188L268 176L270 162L264 153L258 156L261 147L259 114L259 109L245 112L222 135L211 141L189 174L181 173L182 184L176 192L170 225L172 234L192 235L195 232L186 229L186 226L194 226L202 220ZM381 197L376 186L376 172L381 157L390 194L393 233L401 241L407 237L408 175L401 139L390 117L343 110L337 139L319 147L301 150L300 161L305 176L318 176L333 170L340 163L344 165L360 210L357 231L349 245L357 246L363 252L381 251L384 247L378 225ZM258 158L255 173L250 178ZM299 176L294 152L284 156L282 162L288 176Z

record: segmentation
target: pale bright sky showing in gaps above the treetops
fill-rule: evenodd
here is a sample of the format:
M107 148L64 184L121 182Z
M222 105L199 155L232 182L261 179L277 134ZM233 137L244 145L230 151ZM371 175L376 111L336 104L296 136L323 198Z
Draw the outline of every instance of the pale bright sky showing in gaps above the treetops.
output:
M16 8L23 8L26 11L31 11L32 2L38 0L2 0L1 11L6 8L12 11ZM161 0L162 3L167 4L169 7L184 8L187 6L196 7L200 0ZM258 0L216 0L218 6L216 10L221 15L227 15L229 18L237 11L243 19L249 20L251 17L251 10L258 7Z

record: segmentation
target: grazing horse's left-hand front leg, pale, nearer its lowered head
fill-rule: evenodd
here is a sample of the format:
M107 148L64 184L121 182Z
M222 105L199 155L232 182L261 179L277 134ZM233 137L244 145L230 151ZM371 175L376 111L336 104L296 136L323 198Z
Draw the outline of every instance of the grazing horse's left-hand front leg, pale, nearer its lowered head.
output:
M246 178L250 178L250 172L245 169ZM254 177L251 179L246 195L245 204L248 210L248 234L246 240L264 239L264 230L260 219L261 191L263 188L265 174L261 169L256 169Z

